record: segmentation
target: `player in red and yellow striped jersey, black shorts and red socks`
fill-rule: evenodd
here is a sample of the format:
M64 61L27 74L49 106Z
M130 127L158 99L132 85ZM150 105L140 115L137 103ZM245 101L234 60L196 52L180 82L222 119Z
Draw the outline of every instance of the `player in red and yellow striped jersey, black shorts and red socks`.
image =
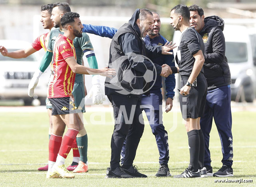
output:
M46 178L75 177L64 166L72 143L77 134L84 129L76 113L72 94L75 73L100 74L108 77L115 75L114 69L92 69L77 64L73 40L75 37L82 37L83 25L79 17L80 15L75 12L68 12L62 16L61 25L65 32L63 35L58 35L54 44L51 65L53 76L49 82L48 91L48 98L52 104L52 133L49 141L49 169ZM68 127L68 131L62 139L65 126Z

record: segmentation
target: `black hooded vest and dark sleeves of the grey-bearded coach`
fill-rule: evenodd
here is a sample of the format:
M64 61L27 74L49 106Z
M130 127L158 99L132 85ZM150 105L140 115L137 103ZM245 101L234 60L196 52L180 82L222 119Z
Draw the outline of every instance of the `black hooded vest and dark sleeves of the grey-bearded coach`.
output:
M110 58L108 67L115 68L117 75L105 81L105 94L123 94L128 96L140 96L150 88L150 84L146 84L143 75L147 70L154 71L154 66L149 59L142 58L141 55L150 58L152 55L160 55L161 46L145 46L141 38L141 32L136 24L139 9L133 13L129 23L121 26L117 33L113 36L110 45ZM139 60L140 59L140 60ZM139 62L137 62L139 60ZM156 74L160 75L162 67L155 64ZM131 81L127 81L128 71L134 75Z

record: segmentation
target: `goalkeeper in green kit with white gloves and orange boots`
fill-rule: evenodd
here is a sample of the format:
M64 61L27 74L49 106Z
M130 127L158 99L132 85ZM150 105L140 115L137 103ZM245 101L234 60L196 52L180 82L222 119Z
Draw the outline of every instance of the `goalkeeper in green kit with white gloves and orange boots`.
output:
M49 36L49 44L47 47L47 51L41 61L39 70L42 74L42 72L45 71L45 69L49 66L51 60L52 60L52 51L54 49L54 43L56 38L58 37L59 34L64 33L64 29L61 26L61 17L64 15L64 13L70 12L70 7L68 3L55 3L52 9L52 16L51 19L54 22L54 27L57 29L54 29L50 32ZM83 54L86 55L88 64L90 68L97 69L98 64L97 60L94 54L93 46L92 43L90 42L89 36L86 33L82 34L81 38L75 38L74 39L74 47L76 51L76 58L77 58L77 63L80 65L83 65L82 61L82 56ZM37 77L37 81L39 79L39 76ZM52 79L52 75L50 80ZM31 80L31 85L33 85L33 89L36 87L36 80ZM83 78L82 74L76 74L75 76L75 84L73 88L72 94L74 95L74 103L75 106L80 109L80 113L85 112L85 107L84 107L84 100L85 98L85 87L84 87L84 81L85 79ZM99 84L99 75L93 76L93 87L90 90L90 92L93 93L93 103L94 104L101 104L105 98L104 92L100 91L101 86ZM90 94L89 94L90 95ZM94 99L97 98L97 99ZM83 102L83 103L82 103ZM80 106L81 104L81 106ZM51 134L51 132L49 132ZM81 145L78 147L79 153L80 153L80 159L78 157L73 157L73 163L67 168L68 170L74 170L74 172L87 172L88 171L88 166L87 166L87 145L88 145L88 138L87 138L87 132L85 128L83 128L79 134L77 135L76 139L77 143ZM75 141L74 141L75 143ZM73 145L74 146L74 145ZM73 152L75 150L73 149ZM73 153L74 154L74 153ZM77 162L79 162L77 166ZM77 167L76 167L77 166ZM75 168L76 167L76 168Z

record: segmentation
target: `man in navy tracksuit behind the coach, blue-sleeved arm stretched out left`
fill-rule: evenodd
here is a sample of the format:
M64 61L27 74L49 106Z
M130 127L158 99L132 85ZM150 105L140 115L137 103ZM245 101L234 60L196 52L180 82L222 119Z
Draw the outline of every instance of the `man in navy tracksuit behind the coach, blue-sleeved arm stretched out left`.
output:
M160 16L156 12L152 12L154 17L153 30L148 32L144 38L144 42L149 46L166 44L167 40L160 35L159 31L161 28ZM117 32L117 29L105 27L105 26L92 26L92 25L83 25L83 32L92 33L108 38L112 38L113 35ZM154 64L162 66L167 64L169 66L175 66L174 56L173 55L160 55L157 58L150 59ZM175 92L175 76L174 74L169 75L165 80L166 85L166 112L169 112L173 106L173 97ZM155 135L158 151L160 154L159 163L160 168L156 173L156 176L170 176L168 161L169 161L169 145L168 145L168 133L164 129L162 121L162 78L160 75L157 75L156 82L150 89L150 95L143 95L141 100L141 105L145 113L147 114L152 133ZM151 105L154 108L154 111L147 107L146 105ZM151 118L150 118L151 116ZM152 119L153 118L153 119ZM125 145L122 148L121 152L121 163L124 161L125 156Z

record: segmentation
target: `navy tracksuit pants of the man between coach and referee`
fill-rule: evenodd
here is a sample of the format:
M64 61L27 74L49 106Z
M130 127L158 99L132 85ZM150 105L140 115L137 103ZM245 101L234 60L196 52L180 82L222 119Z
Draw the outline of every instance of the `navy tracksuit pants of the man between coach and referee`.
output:
M164 129L162 121L162 94L150 93L150 96L143 95L141 99L141 108L145 111L149 120L152 133L155 135L158 152L160 154L159 163L168 164L169 161L169 145L168 133ZM121 164L125 157L125 142L121 152Z

